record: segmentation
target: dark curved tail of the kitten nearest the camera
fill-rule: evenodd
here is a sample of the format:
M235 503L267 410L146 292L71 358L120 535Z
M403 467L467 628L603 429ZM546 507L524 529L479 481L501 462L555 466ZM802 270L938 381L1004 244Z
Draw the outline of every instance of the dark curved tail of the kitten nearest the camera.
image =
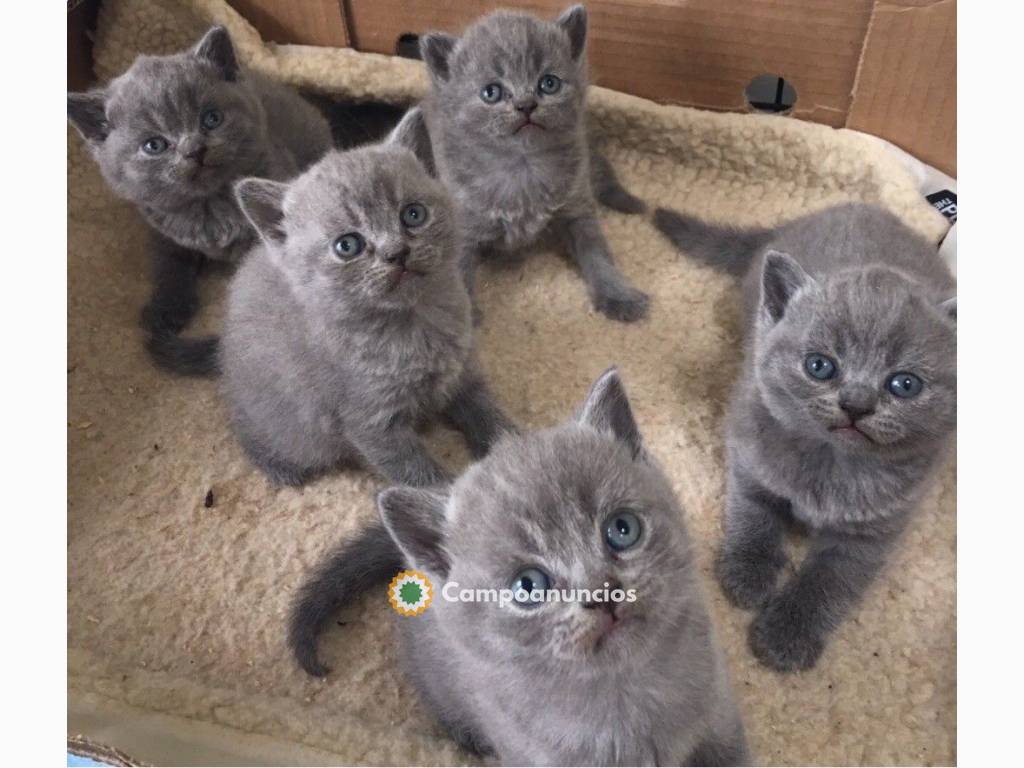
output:
M313 677L327 675L330 670L317 657L316 640L335 611L403 566L398 547L380 522L331 552L302 585L292 603L288 644L299 666Z

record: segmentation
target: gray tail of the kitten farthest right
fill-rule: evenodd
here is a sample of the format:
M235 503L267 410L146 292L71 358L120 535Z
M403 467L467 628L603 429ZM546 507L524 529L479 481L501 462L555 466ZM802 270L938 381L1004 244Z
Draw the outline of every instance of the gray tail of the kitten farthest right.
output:
M654 226L687 255L731 274L742 274L773 229L716 226L667 208L654 211Z

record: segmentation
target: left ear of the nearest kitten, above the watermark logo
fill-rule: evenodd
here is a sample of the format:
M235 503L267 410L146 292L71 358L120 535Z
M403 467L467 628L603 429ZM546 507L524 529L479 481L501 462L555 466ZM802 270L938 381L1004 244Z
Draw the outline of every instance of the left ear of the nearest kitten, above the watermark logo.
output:
M412 564L446 577L451 564L444 551L444 505L436 490L395 485L377 495L384 526Z

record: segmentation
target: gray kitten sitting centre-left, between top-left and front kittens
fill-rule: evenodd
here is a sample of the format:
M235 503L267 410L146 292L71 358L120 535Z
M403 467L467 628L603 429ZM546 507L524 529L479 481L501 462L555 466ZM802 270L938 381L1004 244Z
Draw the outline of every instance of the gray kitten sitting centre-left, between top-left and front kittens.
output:
M425 130L413 110L382 145L237 186L262 243L231 282L219 362L236 432L275 482L357 461L436 483L419 421L443 415L476 456L514 429L474 358L455 211L414 154Z

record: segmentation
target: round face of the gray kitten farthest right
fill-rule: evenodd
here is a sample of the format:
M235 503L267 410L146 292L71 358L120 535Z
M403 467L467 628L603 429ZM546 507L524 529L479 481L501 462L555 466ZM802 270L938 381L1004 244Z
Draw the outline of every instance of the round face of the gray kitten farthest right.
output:
M955 428L955 326L894 270L811 281L758 344L771 412L842 451L925 451Z

